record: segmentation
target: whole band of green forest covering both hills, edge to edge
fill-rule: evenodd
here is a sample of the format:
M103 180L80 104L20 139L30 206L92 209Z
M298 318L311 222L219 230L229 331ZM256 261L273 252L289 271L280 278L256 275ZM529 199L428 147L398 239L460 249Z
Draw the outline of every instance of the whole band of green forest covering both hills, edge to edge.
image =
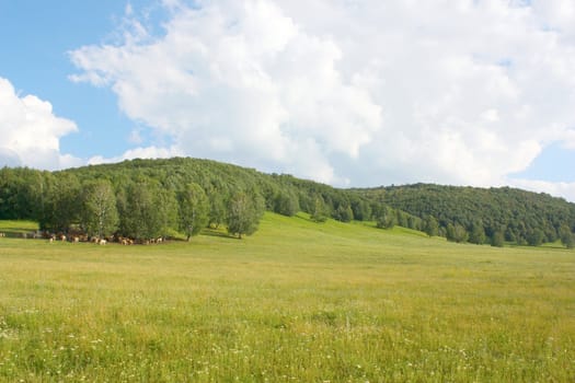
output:
M317 222L398 224L453 242L574 246L575 204L508 187L416 184L340 189L210 160L131 160L58 172L0 170L0 219L47 233L146 240L225 225L242 237L265 210Z

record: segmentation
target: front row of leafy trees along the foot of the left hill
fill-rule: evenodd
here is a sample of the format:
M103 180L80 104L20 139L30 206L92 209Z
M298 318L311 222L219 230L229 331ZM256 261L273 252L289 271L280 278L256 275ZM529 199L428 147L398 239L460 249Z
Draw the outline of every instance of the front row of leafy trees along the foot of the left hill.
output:
M127 176L127 174L125 174ZM150 240L226 224L231 235L255 232L265 205L260 193L208 196L196 183L166 187L157 178L79 176L74 172L0 171L0 219L28 219L48 233Z

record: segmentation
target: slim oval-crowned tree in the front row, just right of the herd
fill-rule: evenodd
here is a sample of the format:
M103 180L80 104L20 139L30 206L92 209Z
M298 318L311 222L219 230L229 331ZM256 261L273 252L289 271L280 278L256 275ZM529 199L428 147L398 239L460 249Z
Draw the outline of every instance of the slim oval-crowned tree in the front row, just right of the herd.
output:
M208 223L209 201L202 186L192 183L180 193L179 205L179 227L189 241Z

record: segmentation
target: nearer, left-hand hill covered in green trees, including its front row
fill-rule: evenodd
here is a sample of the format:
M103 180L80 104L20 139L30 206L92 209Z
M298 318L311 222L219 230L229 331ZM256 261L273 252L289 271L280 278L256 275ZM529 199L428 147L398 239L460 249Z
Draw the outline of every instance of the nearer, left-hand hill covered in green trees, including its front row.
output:
M118 218L90 229L104 210ZM0 219L35 220L53 233L73 228L89 235L151 239L194 234L207 224L241 236L255 230L264 210L285 216L306 211L318 222L369 220L372 212L356 193L209 160L133 160L60 172L0 170ZM231 229L234 223L243 229Z

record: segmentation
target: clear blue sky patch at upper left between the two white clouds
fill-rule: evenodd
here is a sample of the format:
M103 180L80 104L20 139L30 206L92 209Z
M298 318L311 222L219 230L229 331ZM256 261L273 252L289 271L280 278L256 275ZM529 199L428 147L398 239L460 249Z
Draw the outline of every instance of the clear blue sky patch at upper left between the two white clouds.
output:
M118 111L107 89L76 84L68 53L85 44L108 40L123 18L123 1L56 2L0 0L0 77L21 94L49 101L54 113L78 124L79 131L61 138L61 150L77 156L122 153L134 125Z

